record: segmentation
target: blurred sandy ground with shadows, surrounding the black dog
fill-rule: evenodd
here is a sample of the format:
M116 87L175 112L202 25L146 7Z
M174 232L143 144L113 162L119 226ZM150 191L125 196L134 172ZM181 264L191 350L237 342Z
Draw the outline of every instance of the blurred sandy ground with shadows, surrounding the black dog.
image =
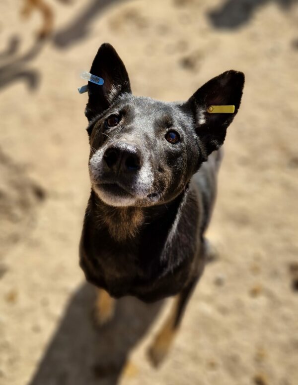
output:
M298 2L44 0L43 40L25 3L0 0L0 384L297 385ZM124 298L98 328L78 267L77 87L103 42L137 95L184 100L227 69L246 76L208 231L219 255L158 370L146 350L171 300Z

